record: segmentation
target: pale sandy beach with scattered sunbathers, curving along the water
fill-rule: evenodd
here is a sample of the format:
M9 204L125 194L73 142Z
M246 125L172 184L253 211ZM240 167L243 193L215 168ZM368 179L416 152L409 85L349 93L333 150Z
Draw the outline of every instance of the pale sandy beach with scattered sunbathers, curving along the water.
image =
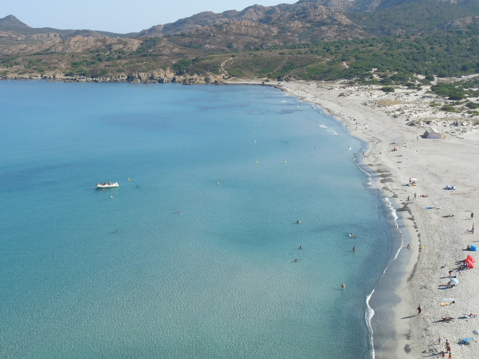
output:
M376 174L380 195L395 199L405 238L398 260L406 258L407 265L396 289L402 302L393 308L396 336L391 339L395 340L376 352L376 358L442 358L446 339L452 358L479 358L479 336L473 334L479 329L479 317L464 316L479 314L479 272L467 269L459 273L456 264L468 254L479 259L479 252L466 250L479 242L479 233L467 232L476 219L471 220L470 214L476 211L474 193L479 183L476 121L430 107L431 101L442 100L428 93L429 87L387 94L379 86L348 86L341 81L266 84L326 110L352 135L368 142L365 157L362 153L356 156ZM431 126L444 138L422 138ZM410 178L417 179L416 186L409 186ZM456 190L445 190L448 184L454 184ZM411 240L411 249L406 248L406 240ZM449 270L459 284L442 288L440 285L450 280ZM418 315L420 304L422 313ZM455 319L445 322L443 316ZM461 345L462 338L474 340Z

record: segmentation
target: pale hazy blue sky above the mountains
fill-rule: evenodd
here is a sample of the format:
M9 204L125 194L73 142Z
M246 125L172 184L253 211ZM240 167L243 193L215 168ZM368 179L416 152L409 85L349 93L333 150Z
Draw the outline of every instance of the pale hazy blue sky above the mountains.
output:
M3 1L0 18L13 15L30 27L89 29L124 34L175 22L201 11L243 10L255 1L271 6L297 0L11 0Z

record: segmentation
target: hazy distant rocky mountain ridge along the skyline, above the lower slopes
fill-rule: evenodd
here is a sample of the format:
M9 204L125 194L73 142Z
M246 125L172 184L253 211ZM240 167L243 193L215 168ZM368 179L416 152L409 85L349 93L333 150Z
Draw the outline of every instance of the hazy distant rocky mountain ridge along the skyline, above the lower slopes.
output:
M0 19L0 31L19 35L57 33L62 40L78 35L95 38L173 36L176 43L214 50L224 49L231 43L233 48L243 49L253 43L270 46L433 30L451 26L452 22L460 26L462 18L474 16L479 16L478 0L299 0L274 6L251 5L241 11L203 11L128 34L35 29L13 15ZM221 34L212 36L217 28ZM176 38L178 36L182 39ZM232 37L229 39L232 41L218 41L225 36Z

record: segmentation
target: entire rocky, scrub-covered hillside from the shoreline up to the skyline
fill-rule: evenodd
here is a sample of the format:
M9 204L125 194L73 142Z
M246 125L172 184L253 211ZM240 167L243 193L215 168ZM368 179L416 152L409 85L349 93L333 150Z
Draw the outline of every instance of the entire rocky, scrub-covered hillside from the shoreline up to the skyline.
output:
M299 0L130 34L36 29L9 15L0 19L0 78L406 83L479 71L478 19L478 0Z

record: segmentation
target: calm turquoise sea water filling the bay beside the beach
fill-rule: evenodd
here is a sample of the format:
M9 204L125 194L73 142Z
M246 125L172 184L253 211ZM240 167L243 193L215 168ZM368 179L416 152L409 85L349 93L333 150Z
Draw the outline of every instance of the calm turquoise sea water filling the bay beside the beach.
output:
M45 82L0 82L0 105L0 357L370 356L391 220L320 109Z

